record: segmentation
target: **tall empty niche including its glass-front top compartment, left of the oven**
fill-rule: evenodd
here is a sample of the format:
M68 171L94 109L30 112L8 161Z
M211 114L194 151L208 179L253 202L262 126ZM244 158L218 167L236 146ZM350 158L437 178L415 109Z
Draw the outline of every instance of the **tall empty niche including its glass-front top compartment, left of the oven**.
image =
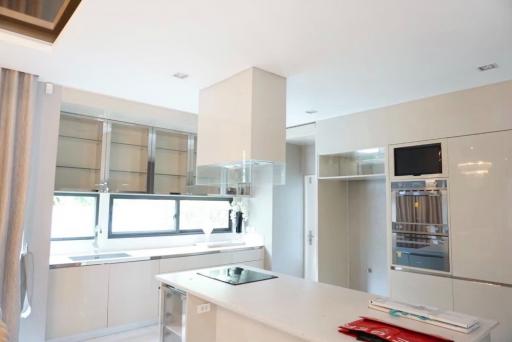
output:
M386 149L318 156L318 279L388 295ZM364 257L361 257L364 255Z

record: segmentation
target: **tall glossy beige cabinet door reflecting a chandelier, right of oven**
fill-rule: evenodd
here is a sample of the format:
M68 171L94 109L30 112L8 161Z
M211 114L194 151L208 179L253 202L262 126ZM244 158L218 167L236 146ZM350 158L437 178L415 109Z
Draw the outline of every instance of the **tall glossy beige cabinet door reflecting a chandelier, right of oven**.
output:
M512 131L449 139L453 274L512 284Z

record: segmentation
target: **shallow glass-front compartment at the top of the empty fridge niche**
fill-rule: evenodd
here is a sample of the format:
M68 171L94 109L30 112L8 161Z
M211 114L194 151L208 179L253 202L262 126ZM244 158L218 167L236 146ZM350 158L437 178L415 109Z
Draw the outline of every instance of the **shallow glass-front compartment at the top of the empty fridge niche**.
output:
M383 148L369 148L353 152L320 155L320 179L364 179L384 177L385 152Z

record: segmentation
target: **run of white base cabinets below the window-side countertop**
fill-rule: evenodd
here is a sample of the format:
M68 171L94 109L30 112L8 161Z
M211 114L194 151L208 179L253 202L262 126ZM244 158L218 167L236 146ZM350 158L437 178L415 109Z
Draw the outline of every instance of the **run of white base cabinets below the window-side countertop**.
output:
M155 275L244 264L263 268L263 248L50 270L46 338L82 341L158 322Z

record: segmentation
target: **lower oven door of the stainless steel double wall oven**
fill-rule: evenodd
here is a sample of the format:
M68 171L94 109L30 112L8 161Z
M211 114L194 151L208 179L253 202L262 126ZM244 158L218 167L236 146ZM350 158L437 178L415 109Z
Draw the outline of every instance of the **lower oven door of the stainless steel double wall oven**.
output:
M435 233L394 231L393 264L450 272L448 236L440 229L435 229Z

